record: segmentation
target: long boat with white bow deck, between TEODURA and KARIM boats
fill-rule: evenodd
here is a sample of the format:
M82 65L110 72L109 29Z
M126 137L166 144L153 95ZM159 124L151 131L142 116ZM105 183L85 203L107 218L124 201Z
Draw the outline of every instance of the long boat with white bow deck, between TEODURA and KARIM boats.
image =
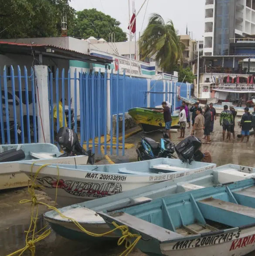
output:
M110 231L105 221L98 215L98 211L112 211L113 209L126 208L134 204L151 201L156 198L177 194L184 191L196 190L203 187L217 186L222 183L236 182L255 176L255 168L228 164L203 173L194 173L178 179L156 183L147 187L129 190L111 197L104 197L92 201L73 204L58 209L68 218L74 218L83 228L96 234ZM68 239L84 241L85 239L99 239L82 232L70 219L62 218L56 211L48 211L44 218L51 228L58 234ZM111 233L100 239L116 239L119 237Z

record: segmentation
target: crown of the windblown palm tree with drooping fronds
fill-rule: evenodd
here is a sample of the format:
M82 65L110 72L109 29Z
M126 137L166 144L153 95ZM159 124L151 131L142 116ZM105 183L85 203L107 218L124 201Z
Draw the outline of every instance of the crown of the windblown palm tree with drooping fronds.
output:
M185 45L180 42L180 36L173 26L173 21L165 24L160 14L152 14L149 24L139 39L141 60L156 55L154 59L159 62L160 68L164 72L170 72L179 59L182 65L184 48Z

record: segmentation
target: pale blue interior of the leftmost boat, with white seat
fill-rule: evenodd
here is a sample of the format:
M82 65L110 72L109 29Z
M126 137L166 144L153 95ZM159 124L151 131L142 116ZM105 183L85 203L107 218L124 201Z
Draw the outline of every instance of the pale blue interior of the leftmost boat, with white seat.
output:
M62 155L58 147L51 143L30 143L30 144L13 144L0 145L0 153L9 150L22 150L25 154L24 160L49 159Z

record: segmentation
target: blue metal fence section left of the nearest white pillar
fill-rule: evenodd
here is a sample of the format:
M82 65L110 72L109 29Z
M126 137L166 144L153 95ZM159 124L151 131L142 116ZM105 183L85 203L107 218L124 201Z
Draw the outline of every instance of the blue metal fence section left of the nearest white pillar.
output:
M14 70L15 68L15 70ZM34 69L4 66L0 70L1 144L37 142L37 104Z

